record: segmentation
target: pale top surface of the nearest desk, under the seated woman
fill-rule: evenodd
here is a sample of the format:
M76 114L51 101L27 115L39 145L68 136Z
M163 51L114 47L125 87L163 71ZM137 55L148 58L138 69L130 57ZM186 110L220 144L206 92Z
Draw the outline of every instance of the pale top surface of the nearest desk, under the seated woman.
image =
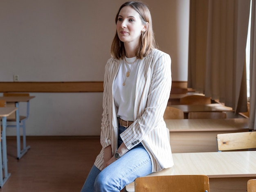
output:
M256 176L256 151L174 153L173 161L173 167L162 170L158 175L203 174L209 178Z

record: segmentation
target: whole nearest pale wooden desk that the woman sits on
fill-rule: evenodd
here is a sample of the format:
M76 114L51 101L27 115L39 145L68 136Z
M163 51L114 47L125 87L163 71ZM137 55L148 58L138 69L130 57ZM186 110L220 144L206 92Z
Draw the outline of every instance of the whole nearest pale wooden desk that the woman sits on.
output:
M246 192L247 181L256 178L256 151L173 154L174 165L154 175L204 174L210 192ZM134 192L134 183L126 186Z

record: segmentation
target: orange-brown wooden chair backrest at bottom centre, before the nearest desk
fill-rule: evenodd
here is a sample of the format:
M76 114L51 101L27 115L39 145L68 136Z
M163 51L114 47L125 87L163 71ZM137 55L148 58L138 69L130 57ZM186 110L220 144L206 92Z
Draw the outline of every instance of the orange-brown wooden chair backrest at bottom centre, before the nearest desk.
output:
M135 179L135 192L209 192L207 175L145 176Z

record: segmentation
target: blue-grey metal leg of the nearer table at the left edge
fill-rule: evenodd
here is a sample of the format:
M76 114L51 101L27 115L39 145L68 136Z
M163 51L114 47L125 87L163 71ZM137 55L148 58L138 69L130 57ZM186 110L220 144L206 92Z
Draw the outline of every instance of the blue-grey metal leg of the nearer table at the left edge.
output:
M7 168L7 145L6 145L6 117L2 117L2 160L3 162L0 162L0 172L2 172L2 163L3 163L3 168L4 168L4 177L3 175L0 174L1 178L1 183L0 187L4 185L4 183L7 181L7 179L11 176L11 174L8 174L8 168Z

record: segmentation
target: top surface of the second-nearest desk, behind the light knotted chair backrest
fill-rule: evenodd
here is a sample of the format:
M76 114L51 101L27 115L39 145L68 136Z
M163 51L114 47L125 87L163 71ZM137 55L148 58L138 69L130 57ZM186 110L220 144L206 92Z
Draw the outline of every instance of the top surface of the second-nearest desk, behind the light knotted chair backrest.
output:
M187 131L237 131L249 129L249 118L226 119L165 119L170 132Z

